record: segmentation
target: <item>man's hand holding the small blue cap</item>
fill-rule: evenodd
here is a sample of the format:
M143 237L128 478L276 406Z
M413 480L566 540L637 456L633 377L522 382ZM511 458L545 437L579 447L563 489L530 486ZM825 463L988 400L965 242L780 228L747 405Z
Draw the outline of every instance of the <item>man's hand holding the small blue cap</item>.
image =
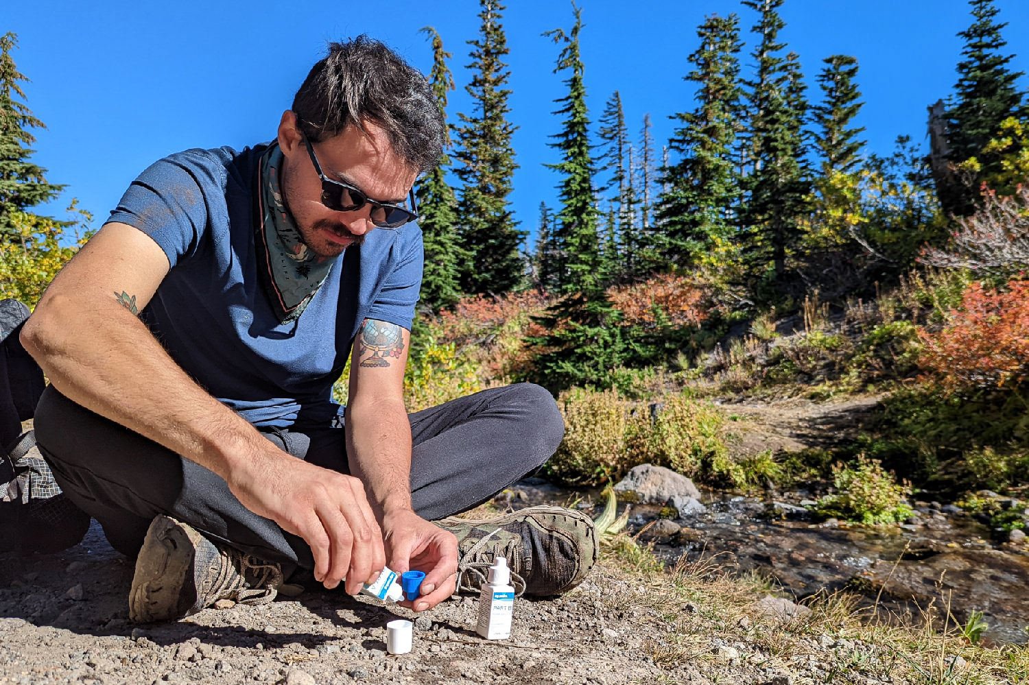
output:
M457 582L457 538L410 509L383 518L389 567L397 574L416 569L425 572L421 597L400 606L425 611L454 593Z

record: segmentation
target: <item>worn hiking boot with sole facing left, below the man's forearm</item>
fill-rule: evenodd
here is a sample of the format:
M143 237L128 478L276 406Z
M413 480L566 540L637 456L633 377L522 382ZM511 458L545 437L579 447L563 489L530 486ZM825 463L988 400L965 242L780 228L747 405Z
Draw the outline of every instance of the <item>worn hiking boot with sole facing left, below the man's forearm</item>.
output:
M174 621L218 600L267 604L282 581L278 564L215 544L191 526L161 514L150 521L136 558L129 618L137 623Z

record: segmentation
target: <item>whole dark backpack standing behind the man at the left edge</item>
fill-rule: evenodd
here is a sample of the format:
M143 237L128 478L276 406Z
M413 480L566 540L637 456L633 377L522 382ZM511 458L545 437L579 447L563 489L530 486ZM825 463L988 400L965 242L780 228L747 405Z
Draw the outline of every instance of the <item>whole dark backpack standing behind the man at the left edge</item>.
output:
M81 541L90 516L61 492L39 454L36 434L22 432L43 392L43 371L19 340L29 308L0 300L0 553L52 552Z

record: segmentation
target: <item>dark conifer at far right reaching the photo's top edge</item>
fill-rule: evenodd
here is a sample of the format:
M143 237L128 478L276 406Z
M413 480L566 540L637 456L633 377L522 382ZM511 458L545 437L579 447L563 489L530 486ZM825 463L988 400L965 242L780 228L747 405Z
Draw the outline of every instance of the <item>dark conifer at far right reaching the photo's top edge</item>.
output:
M1000 155L986 149L998 137L1001 122L1023 118L1023 94L1018 89L1022 72L1013 72L1013 55L1004 55L1007 41L1001 36L1006 23L994 17L999 9L993 0L969 0L974 22L958 35L964 39L958 63L958 82L948 109L949 160L960 170L954 187L939 188L944 209L957 216L974 211L984 178L1001 170Z

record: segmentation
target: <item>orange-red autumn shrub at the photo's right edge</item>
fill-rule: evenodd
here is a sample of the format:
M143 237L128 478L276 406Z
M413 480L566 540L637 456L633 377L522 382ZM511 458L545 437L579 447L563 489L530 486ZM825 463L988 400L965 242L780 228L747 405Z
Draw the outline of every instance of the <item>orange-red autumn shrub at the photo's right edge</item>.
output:
M1029 281L972 284L943 329L919 330L919 365L951 391L1014 389L1029 380Z

